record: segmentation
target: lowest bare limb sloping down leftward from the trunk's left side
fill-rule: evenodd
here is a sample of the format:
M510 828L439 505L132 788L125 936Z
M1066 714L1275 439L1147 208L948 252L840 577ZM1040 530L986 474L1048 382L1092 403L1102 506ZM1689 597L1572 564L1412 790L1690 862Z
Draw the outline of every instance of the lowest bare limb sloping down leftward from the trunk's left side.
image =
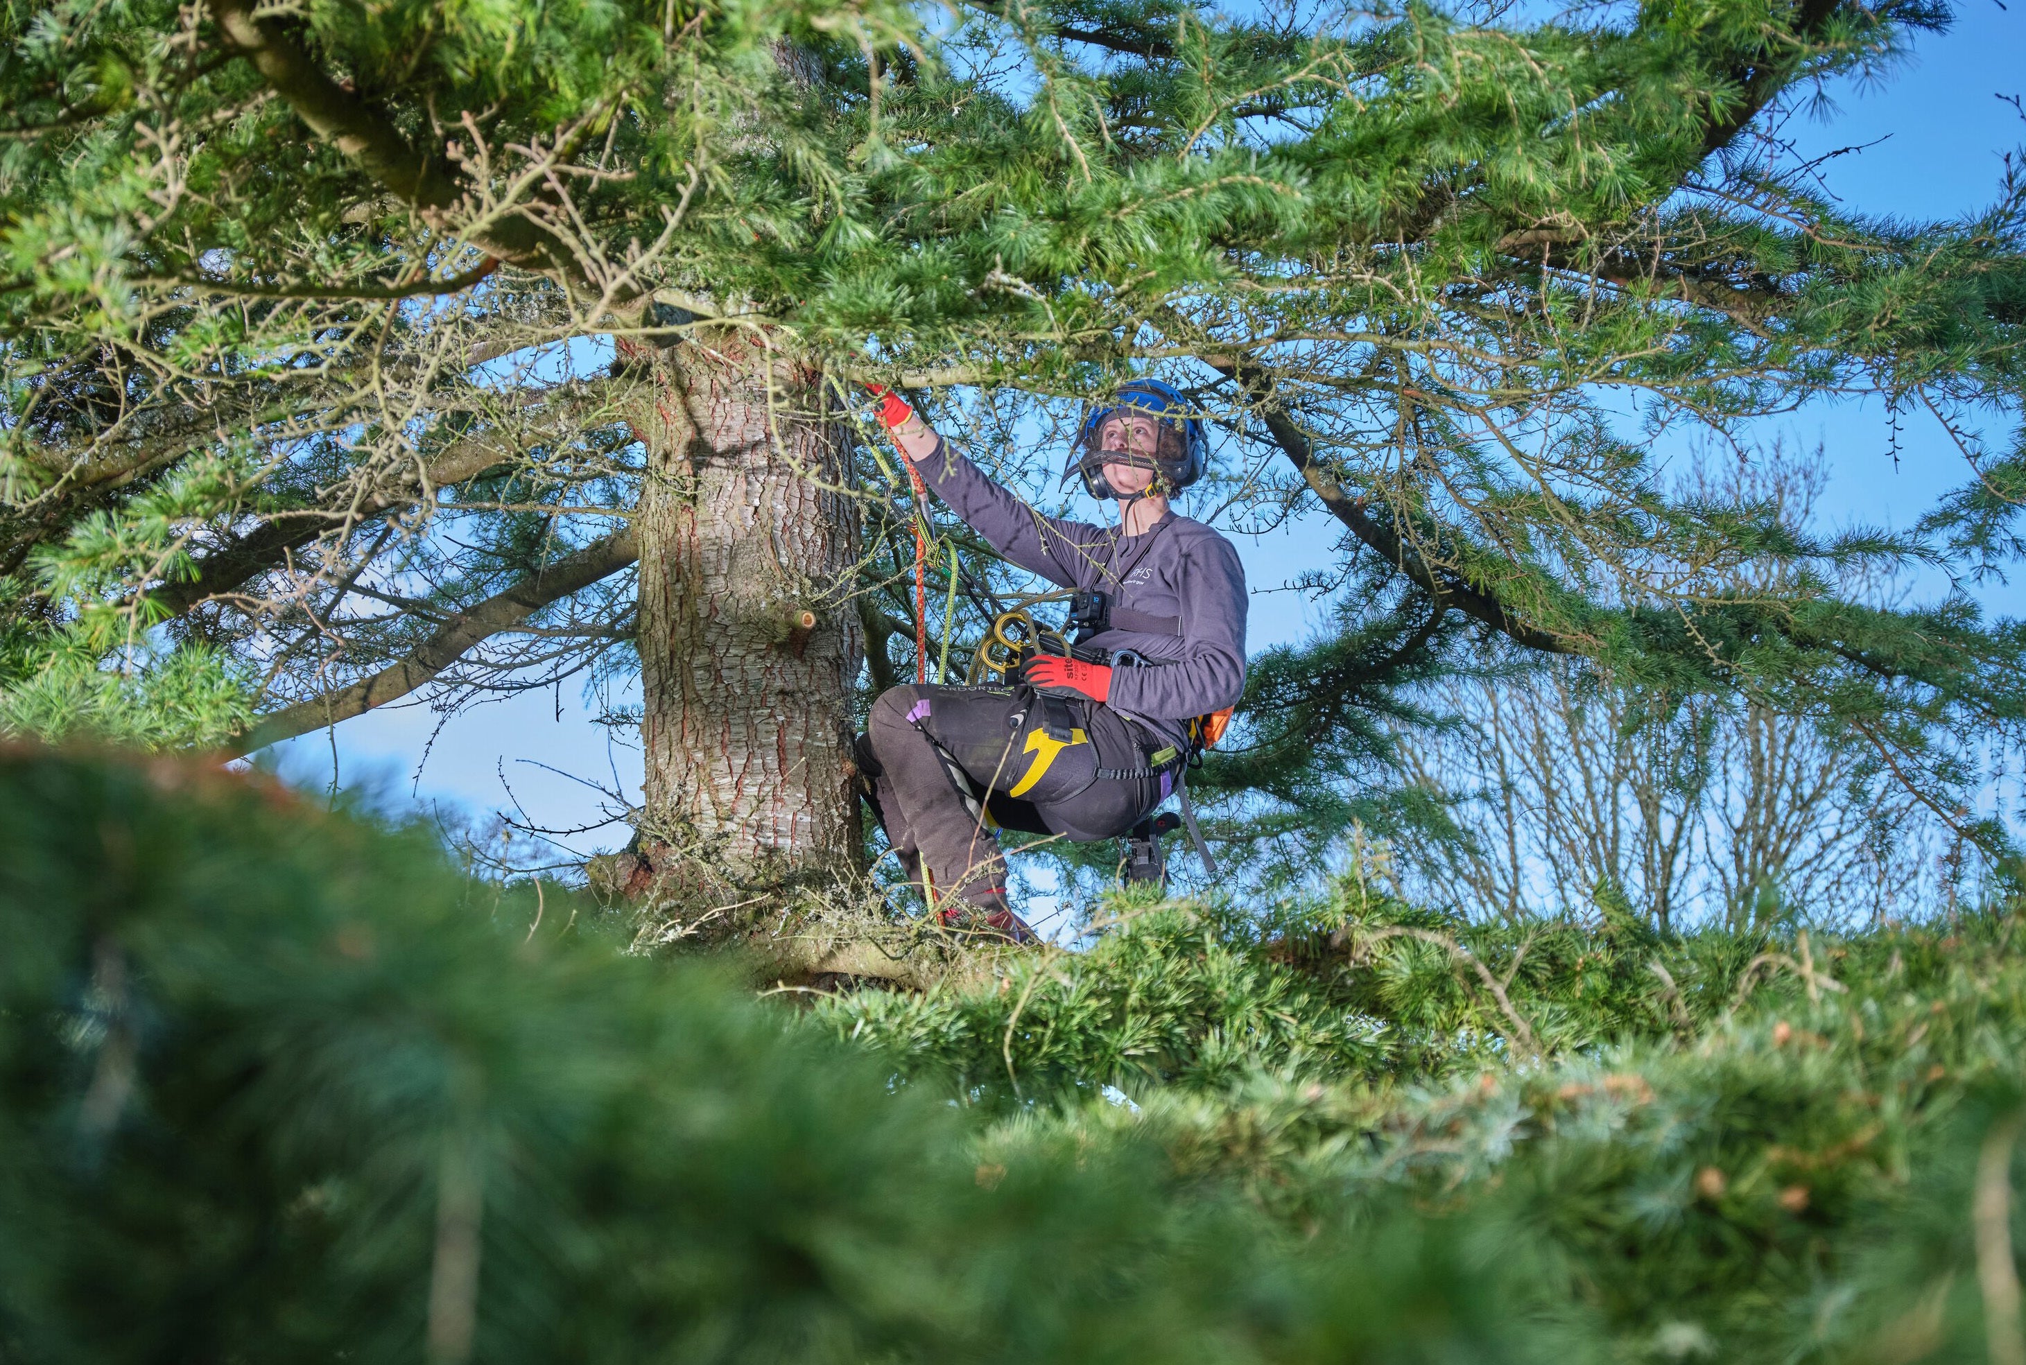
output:
M586 545L575 555L565 555L539 573L521 579L506 591L458 612L446 620L421 648L407 658L387 664L369 678L338 689L326 697L284 707L263 717L233 747L239 753L263 749L282 739L306 735L324 725L348 721L365 715L373 707L399 701L415 689L427 685L444 668L458 662L464 650L480 640L513 630L535 612L561 601L563 597L612 577L640 557L632 529L616 531L596 545Z

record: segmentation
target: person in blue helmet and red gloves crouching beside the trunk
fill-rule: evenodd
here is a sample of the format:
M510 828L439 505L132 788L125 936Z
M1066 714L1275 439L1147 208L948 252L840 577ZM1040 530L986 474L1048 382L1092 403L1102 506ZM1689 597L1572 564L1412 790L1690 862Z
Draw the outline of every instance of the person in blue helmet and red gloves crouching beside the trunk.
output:
M1007 561L1076 589L1070 656L1027 658L1011 687L889 689L857 743L863 792L928 903L946 924L1027 940L995 830L1098 840L1141 826L1133 857L1159 869L1147 816L1244 691L1238 551L1169 506L1201 478L1210 441L1187 399L1159 381L1092 407L1064 472L1118 504L1116 527L1092 527L1043 516L898 393L875 395L893 446L958 516Z

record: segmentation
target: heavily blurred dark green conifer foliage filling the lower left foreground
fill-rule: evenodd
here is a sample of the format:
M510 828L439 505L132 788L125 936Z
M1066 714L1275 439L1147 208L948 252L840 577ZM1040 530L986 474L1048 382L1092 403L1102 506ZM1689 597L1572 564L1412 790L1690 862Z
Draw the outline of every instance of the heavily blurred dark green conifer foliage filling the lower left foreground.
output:
M0 1359L1534 1359L267 786L0 757Z

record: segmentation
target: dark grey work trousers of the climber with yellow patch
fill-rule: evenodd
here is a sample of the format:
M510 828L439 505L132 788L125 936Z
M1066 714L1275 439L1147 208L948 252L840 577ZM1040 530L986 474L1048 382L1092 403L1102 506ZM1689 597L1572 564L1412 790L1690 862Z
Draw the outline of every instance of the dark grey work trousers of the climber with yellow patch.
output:
M999 828L1116 838L1173 788L1173 766L1149 770L1122 715L1029 687L889 689L873 703L859 768L916 887L934 905L983 911L1007 909Z

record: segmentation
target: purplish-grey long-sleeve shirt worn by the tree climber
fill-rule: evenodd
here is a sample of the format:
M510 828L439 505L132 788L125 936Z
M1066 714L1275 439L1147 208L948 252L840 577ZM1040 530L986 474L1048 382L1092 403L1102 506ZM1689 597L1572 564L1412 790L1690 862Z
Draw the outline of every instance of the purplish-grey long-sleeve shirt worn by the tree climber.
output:
M1183 743L1189 717L1238 703L1246 687L1246 573L1222 535L1175 512L1141 535L1043 516L948 444L914 468L1021 569L1062 587L1106 591L1112 608L1181 620L1179 636L1106 630L1088 640L1106 650L1139 650L1161 664L1114 670L1114 711L1167 743Z

